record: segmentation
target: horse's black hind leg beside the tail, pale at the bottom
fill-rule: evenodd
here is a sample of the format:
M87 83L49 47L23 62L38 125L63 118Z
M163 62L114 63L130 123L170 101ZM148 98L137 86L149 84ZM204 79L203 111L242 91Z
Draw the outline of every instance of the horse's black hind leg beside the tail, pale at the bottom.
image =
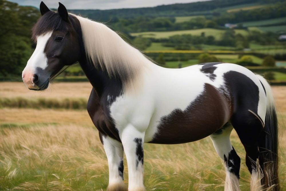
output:
M260 165L257 163L257 159L259 159L259 135L263 130L261 121L249 111L245 111L234 114L231 123L245 148L245 163L251 173L250 190L260 191L262 190L260 168L263 166L263 159L259 160Z

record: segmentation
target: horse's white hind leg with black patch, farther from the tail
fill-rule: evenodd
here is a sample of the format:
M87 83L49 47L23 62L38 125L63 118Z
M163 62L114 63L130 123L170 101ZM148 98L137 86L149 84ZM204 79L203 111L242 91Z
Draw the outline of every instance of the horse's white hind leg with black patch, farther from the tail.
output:
M227 123L217 132L210 135L217 154L225 162L225 191L239 190L240 158L232 147L229 139L232 130L233 127Z

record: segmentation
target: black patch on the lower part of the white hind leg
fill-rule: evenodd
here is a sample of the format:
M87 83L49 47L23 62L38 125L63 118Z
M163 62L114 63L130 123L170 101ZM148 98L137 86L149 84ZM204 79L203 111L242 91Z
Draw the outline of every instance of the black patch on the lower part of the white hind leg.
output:
M227 169L239 178L240 158L235 152L234 148L229 152L229 158L223 155Z

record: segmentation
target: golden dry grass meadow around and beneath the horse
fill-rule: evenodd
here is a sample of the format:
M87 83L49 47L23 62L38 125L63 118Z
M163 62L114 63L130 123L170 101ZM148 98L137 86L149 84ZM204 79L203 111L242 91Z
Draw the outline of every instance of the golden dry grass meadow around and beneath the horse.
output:
M29 91L22 82L0 83L0 98L88 99L88 82L54 83ZM273 87L279 116L279 175L286 190L286 87ZM107 159L85 109L0 108L0 190L106 190ZM249 190L245 151L235 131L231 142L241 157L241 190ZM147 190L224 190L225 170L211 140L180 145L144 145ZM124 182L128 167L124 161Z

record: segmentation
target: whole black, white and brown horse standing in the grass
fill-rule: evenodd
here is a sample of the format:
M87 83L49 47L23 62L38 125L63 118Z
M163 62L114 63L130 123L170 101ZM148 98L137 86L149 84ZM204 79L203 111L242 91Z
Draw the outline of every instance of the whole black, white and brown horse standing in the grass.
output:
M179 144L208 136L225 165L225 190L239 190L233 128L246 151L251 190L279 190L277 116L262 76L219 62L164 68L105 24L68 13L61 3L54 12L41 2L40 12L32 30L37 45L23 81L31 90L44 90L65 67L80 63L92 84L87 110L108 159L108 191L145 190L144 143Z

